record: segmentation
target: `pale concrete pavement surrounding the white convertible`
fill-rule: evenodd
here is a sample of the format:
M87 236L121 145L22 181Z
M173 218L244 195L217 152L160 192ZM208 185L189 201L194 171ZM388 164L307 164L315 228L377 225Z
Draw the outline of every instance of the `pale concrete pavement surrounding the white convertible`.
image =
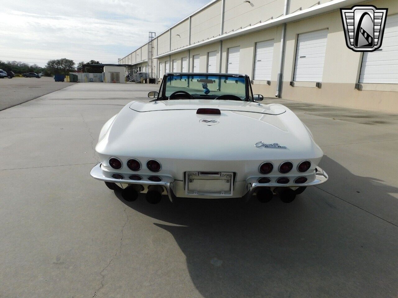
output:
M79 83L0 112L0 297L396 297L398 116L281 102L330 180L293 203L129 203L89 172L158 86Z

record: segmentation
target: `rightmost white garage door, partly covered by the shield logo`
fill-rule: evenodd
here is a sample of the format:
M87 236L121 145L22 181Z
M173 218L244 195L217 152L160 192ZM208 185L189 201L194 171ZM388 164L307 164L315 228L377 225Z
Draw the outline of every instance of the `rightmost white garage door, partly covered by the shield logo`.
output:
M398 14L387 17L381 48L363 53L359 83L398 84Z

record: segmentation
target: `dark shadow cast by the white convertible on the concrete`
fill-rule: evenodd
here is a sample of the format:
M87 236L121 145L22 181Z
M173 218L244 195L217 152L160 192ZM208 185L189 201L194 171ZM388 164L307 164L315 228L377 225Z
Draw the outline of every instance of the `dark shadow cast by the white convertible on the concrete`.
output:
M339 173L327 183L344 177L373 185L377 199L396 204L389 193L398 189L355 176L328 157L322 164L330 175ZM290 204L278 197L266 204L185 199L174 205L164 197L150 205L142 195L121 201L170 223L154 224L172 234L206 298L395 297L398 290L397 227L320 188L307 188Z

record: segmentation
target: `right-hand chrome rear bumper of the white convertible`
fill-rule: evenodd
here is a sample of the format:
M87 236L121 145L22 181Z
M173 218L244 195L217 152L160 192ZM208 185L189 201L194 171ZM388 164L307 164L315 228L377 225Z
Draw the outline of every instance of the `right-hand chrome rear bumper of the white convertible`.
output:
M279 184L279 183L258 183L258 177L252 177L246 180L246 187L247 187L247 192L244 195L247 199L250 199L250 197L253 195L253 193L256 191L257 188L259 187L302 187L302 186L314 186L318 184L325 183L328 181L329 176L326 174L324 170L322 170L320 167L316 167L317 172L315 173L315 179L312 180L311 182L306 182L306 183L301 183L301 184L295 184L293 183L288 183L288 184ZM301 177L301 176L300 176ZM291 176L288 177L289 179L292 178Z

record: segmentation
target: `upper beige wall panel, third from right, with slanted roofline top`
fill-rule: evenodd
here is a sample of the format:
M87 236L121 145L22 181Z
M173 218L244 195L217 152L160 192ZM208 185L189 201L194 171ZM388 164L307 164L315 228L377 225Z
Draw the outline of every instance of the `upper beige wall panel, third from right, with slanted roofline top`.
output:
M191 17L191 44L220 34L221 6L217 1Z

